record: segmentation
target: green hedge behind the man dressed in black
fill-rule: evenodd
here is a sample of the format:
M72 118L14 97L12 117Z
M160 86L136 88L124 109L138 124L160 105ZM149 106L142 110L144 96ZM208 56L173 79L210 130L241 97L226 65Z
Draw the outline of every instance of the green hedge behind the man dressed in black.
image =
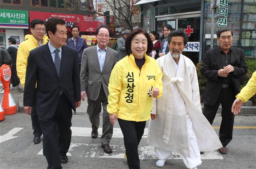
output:
M255 58L254 59L246 58L245 62L248 66L248 72L245 76L242 76L240 78L241 89L242 89L242 87L244 87L247 84L248 80L252 77L253 72L256 71L256 59ZM198 78L200 95L204 94L204 89L205 89L206 81L207 81L206 78L204 76L202 76L202 74L200 72L202 66L203 66L202 61L196 65L196 73L197 73L197 78ZM252 101L253 105L256 105L256 95L254 95L250 100Z

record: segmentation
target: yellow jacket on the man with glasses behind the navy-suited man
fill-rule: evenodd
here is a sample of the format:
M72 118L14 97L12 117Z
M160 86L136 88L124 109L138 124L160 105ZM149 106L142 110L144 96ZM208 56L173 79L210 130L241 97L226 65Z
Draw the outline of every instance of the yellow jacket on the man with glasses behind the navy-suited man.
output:
M42 45L46 44L48 41L44 40ZM20 83L22 86L25 84L25 77L26 77L26 69L28 64L28 55L30 50L37 48L37 40L34 36L29 36L27 40L22 42L18 48L17 52L17 60L16 60L16 69L17 75L20 78Z

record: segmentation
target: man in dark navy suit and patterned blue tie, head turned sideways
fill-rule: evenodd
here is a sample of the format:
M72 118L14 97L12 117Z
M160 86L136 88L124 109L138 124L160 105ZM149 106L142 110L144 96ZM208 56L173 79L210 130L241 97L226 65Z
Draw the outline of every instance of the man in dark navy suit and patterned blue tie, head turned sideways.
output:
M81 103L78 54L65 45L64 20L50 18L46 32L50 41L31 50L28 56L24 109L30 115L32 106L36 107L47 168L60 169L61 163L68 162L72 109L76 111Z

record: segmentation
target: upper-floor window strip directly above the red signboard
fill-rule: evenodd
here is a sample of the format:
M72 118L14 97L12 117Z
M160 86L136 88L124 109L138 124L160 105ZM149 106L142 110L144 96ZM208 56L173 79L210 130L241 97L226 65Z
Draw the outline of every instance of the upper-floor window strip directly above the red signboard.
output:
M32 0L31 5L72 10L73 0Z

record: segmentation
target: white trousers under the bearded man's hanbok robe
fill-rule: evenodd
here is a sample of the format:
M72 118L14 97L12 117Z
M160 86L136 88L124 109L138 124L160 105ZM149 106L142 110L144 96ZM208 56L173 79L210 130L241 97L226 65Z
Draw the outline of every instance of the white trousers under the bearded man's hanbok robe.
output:
M196 135L193 130L192 120L188 113L186 114L187 126L188 126L188 147L190 151L190 157L184 157L181 155L183 162L188 169L193 169L194 167L201 165L201 155L196 141ZM172 151L166 151L159 148L155 148L155 155L158 159L168 159L172 156Z

